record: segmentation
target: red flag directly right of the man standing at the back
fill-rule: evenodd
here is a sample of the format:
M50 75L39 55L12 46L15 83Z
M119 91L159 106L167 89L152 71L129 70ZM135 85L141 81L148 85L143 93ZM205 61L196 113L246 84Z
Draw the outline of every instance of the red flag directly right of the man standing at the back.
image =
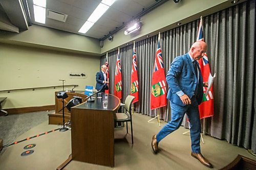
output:
M122 74L121 74L119 48L118 48L117 59L116 59L114 95L117 96L117 98L122 99Z

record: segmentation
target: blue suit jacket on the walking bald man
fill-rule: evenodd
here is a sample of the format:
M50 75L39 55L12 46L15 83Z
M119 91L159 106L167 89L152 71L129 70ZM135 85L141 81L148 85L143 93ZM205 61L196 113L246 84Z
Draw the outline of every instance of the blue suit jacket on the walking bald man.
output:
M186 106L182 103L179 95L177 95L176 92L182 90L190 99L195 94L197 77L188 53L176 57L172 64L170 64L170 69L166 75L166 82L169 86L167 99L177 105ZM203 77L200 68L198 93L196 95L196 99L198 105L200 105L203 99Z

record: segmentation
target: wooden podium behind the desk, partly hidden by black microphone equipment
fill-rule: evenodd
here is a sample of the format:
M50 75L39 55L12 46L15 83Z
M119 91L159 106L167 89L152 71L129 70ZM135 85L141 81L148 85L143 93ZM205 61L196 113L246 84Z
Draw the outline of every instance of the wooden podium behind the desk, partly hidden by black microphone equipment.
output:
M59 91L55 92L55 112L48 114L49 116L49 124L52 125L62 125L62 99L57 99L56 95ZM68 98L64 100L64 105L74 98L74 96L79 96L82 98L83 102L85 102L87 95L83 93L84 91L75 91L75 92L67 92ZM68 111L67 108L64 109L64 117L65 117L65 122L68 122L71 118L70 112Z

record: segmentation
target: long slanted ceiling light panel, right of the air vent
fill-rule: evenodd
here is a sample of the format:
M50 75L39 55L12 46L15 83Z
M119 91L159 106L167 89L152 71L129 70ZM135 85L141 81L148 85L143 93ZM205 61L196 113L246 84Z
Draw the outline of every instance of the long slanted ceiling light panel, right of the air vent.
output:
M94 25L95 22L114 4L116 0L102 0L96 7L88 20L82 25L79 33L85 34Z

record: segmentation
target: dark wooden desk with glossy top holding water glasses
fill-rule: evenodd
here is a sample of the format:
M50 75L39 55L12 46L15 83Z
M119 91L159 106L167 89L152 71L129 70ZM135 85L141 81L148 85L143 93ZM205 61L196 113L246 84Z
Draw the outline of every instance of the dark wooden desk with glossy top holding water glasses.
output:
M108 100L106 109L104 100ZM102 95L71 108L72 154L57 169L71 160L114 167L114 114L119 106L120 100L109 94L108 99Z

